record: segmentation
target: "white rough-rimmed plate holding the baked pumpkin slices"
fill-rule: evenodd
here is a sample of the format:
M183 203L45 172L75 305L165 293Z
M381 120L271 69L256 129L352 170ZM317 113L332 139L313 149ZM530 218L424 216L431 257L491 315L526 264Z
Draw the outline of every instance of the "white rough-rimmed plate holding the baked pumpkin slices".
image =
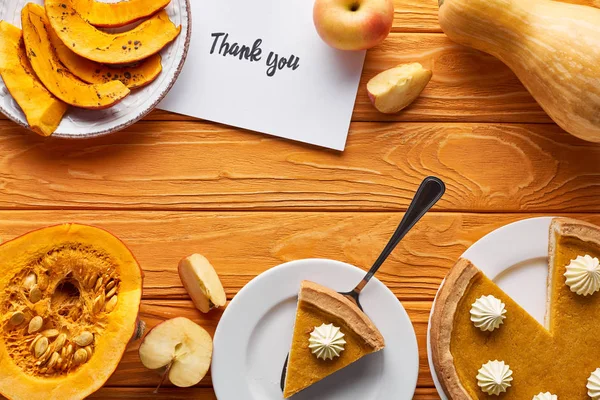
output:
M119 0L101 0L116 3ZM0 0L0 20L21 27L21 10L30 2L43 0ZM134 124L154 109L169 92L185 62L191 38L191 10L189 0L171 0L165 9L181 33L161 52L163 71L148 86L134 90L123 101L106 110L83 110L70 107L54 137L90 138L117 132ZM0 78L0 112L17 124L28 127L25 115L8 93Z

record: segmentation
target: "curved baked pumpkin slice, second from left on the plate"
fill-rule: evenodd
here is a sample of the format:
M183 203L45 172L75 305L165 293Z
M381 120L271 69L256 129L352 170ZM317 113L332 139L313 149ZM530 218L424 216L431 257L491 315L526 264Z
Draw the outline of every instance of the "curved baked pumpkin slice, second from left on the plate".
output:
M21 12L27 57L44 86L67 104L86 109L104 109L123 100L130 90L120 81L88 84L75 77L60 62L52 44L44 8L27 4Z

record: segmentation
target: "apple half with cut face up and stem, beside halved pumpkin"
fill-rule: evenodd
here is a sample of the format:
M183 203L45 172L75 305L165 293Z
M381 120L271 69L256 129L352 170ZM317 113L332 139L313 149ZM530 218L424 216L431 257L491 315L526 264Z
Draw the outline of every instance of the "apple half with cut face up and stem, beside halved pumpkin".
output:
M189 387L206 376L212 349L212 338L204 328L178 317L162 322L148 332L140 345L139 355L148 369L166 368L161 384L168 376L175 386Z

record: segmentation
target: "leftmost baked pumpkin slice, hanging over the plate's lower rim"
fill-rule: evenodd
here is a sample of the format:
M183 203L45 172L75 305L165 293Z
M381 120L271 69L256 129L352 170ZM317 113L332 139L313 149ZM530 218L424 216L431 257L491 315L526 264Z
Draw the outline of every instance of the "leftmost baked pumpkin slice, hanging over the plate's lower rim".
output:
M68 106L35 76L25 55L22 31L6 21L0 21L0 75L31 130L42 136L54 133Z

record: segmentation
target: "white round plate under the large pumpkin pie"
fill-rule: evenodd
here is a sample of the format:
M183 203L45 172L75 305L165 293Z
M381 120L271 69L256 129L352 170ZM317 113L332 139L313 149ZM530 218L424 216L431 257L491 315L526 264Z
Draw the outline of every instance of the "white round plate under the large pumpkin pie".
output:
M531 218L503 226L475 242L462 255L544 324L546 279L548 277L548 239L552 217ZM435 307L435 301L431 309ZM431 322L431 314L429 316ZM444 393L431 359L430 332L427 329L427 359L435 387Z

